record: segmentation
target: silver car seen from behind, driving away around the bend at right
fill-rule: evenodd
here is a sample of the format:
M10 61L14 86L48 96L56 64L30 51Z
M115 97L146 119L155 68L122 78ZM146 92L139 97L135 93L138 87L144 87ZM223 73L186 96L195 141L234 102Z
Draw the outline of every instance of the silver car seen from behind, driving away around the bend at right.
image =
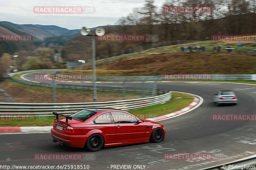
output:
M214 102L217 106L220 104L226 104L226 103L233 103L237 104L237 97L236 94L232 91L219 91L218 93L214 94L213 98Z

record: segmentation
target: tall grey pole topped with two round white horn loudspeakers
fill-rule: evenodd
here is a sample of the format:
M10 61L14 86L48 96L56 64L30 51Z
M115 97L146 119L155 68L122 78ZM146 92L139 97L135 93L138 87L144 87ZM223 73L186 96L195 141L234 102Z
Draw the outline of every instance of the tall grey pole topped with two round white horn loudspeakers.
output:
M95 36L103 36L105 34L105 29L99 27L95 30L95 34L91 34L91 30L82 27L80 30L81 35L92 36L92 67L93 67L93 102L97 102L97 88L96 88L96 63L95 63ZM90 34L89 34L90 33Z

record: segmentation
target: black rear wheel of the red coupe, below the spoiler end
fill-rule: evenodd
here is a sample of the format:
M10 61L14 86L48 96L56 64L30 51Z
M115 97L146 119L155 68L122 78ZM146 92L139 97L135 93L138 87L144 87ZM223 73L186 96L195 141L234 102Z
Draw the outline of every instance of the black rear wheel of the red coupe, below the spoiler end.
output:
M93 134L88 137L85 148L90 152L99 151L104 145L104 138L100 134Z

